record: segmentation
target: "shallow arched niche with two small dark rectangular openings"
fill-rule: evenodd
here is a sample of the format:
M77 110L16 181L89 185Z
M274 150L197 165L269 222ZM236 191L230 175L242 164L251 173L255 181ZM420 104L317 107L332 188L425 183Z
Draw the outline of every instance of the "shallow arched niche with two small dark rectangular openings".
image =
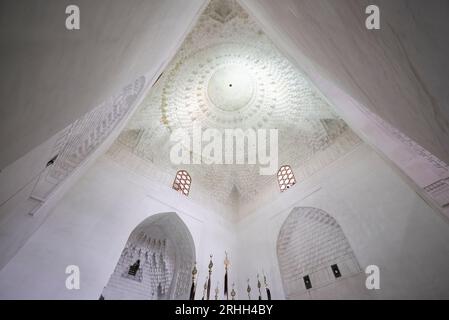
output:
M302 298L339 281L345 285L345 279L361 273L340 225L318 208L290 212L279 232L277 256L286 299Z

